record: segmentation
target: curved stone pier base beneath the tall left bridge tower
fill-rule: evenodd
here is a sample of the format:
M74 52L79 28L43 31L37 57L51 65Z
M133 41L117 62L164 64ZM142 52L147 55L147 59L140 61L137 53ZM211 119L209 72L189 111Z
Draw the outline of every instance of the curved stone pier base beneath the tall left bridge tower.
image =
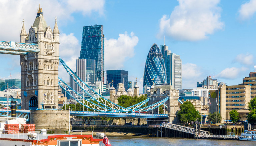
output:
M30 110L30 124L36 129L68 130L68 110Z

